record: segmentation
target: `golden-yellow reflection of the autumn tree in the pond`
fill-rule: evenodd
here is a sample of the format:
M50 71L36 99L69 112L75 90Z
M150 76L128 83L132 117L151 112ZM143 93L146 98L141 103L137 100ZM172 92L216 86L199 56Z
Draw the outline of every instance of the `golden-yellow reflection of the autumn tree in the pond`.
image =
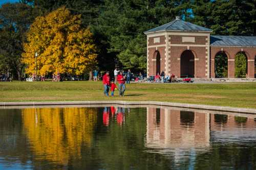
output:
M81 145L90 145L96 110L92 108L24 109L23 121L34 153L56 163L81 157Z

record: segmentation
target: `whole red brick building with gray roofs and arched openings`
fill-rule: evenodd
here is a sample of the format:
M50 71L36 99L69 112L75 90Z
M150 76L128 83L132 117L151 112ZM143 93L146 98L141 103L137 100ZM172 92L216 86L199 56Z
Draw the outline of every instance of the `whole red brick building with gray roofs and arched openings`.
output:
M226 56L227 78L234 78L234 60L243 53L247 78L256 74L256 37L211 36L212 30L185 22L179 17L144 32L147 36L147 77L163 70L177 77L215 78L218 54Z

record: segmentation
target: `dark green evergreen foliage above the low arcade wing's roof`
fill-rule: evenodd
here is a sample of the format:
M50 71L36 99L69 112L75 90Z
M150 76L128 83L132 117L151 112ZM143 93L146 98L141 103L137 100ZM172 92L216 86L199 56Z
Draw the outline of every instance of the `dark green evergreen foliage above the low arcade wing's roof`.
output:
M256 35L256 0L191 1L192 22L217 35Z

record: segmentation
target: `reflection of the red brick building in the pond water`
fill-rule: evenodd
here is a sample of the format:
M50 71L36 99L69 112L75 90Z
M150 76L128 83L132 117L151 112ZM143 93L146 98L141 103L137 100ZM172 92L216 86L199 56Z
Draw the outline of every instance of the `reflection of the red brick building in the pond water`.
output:
M255 136L256 115L187 112L147 108L146 147L190 149L208 148L210 140L228 142Z

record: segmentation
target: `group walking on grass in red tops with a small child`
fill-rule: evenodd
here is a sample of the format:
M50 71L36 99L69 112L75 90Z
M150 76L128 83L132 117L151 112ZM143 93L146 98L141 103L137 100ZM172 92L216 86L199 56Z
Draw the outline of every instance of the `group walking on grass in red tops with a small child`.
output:
M130 71L131 72L131 71ZM104 95L109 96L109 90L111 90L111 96L114 96L114 92L117 89L116 82L118 82L119 96L124 96L125 91L125 76L120 70L114 70L115 80L110 80L110 72L106 71L106 74L102 78L104 86ZM130 82L129 82L130 83Z

